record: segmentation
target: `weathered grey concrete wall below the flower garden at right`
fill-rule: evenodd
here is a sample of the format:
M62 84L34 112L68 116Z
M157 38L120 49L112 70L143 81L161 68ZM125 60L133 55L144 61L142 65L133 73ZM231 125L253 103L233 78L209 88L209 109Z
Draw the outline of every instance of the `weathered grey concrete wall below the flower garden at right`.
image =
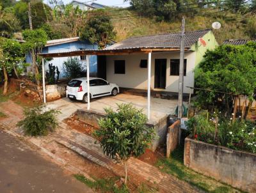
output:
M244 190L256 192L256 154L185 139L184 165Z

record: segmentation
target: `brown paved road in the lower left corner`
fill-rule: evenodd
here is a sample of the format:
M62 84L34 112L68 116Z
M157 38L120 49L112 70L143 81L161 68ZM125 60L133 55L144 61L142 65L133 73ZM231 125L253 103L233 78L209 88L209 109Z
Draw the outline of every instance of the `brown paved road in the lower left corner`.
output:
M89 193L92 190L0 130L0 192Z

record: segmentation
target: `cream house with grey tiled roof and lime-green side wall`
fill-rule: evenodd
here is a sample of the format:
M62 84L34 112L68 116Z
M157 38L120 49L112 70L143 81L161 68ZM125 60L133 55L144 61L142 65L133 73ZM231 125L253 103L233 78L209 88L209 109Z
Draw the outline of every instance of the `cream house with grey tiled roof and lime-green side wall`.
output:
M193 87L194 70L202 61L207 49L218 46L210 29L191 31L185 36L184 93ZM161 49L172 51L152 52L151 89L152 91L178 93L180 33L139 36L127 38L105 50ZM106 79L122 88L147 89L147 54L106 56Z

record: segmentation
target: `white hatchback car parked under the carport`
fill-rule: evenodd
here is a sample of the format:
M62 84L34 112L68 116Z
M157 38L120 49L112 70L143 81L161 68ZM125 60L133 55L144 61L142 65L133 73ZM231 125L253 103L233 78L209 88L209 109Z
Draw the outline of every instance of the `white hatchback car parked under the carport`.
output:
M116 96L118 93L119 87L116 84L100 78L90 78L90 98L108 95ZM66 96L70 100L83 100L84 103L87 103L87 78L72 79L68 82Z

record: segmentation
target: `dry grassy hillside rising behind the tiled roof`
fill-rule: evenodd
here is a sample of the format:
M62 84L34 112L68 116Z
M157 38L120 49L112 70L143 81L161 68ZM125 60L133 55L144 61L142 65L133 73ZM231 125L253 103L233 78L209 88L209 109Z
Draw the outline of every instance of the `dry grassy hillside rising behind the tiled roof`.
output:
M230 12L187 16L186 31L211 28L212 22L218 21L221 23L221 29L213 30L218 43L227 39L252 39L256 31L255 17L256 15L252 13L242 15ZM116 41L124 40L129 36L179 32L181 26L181 19L157 22L153 18L138 17L131 10L122 10L122 16L114 17L112 22L117 32Z

